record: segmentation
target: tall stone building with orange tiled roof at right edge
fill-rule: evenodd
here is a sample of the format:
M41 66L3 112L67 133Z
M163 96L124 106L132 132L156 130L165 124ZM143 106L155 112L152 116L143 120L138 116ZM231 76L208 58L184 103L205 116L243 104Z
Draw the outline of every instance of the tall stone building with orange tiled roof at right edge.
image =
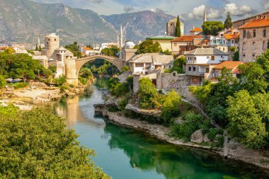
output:
M269 40L269 18L266 15L255 19L240 28L239 59L254 62L266 49Z

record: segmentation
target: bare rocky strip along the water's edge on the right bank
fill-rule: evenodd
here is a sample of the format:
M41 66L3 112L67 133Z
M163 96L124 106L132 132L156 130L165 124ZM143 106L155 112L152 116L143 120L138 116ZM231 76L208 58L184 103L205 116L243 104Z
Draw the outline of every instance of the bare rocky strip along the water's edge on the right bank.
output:
M143 131L149 132L149 134L154 137L164 140L171 144L194 147L198 149L205 149L207 151L212 151L221 156L227 156L227 158L244 161L246 163L251 163L253 165L259 166L261 168L269 169L269 151L268 150L253 150L247 149L242 146L234 139L226 141L227 144L224 148L212 148L211 146L202 146L195 144L193 142L183 142L183 140L173 139L169 137L170 129L161 125L152 125L148 122L140 120L132 120L125 117L122 112L108 112L105 105L96 105L96 112L101 112L109 120L116 122L120 125L127 127L132 127L136 129L142 129Z

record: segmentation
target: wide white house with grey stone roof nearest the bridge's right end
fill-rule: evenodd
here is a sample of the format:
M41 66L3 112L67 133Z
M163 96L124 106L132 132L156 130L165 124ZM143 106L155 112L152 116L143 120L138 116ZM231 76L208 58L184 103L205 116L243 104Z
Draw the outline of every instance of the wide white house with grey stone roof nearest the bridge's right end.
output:
M132 74L147 75L161 69L173 67L173 56L159 53L138 54L130 59Z

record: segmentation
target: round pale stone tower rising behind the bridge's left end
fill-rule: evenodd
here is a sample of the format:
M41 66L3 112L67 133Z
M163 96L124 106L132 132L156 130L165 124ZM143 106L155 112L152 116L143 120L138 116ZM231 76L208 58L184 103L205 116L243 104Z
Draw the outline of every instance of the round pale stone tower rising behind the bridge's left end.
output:
M51 33L45 37L45 55L48 58L52 57L53 52L59 48L59 36L55 33Z

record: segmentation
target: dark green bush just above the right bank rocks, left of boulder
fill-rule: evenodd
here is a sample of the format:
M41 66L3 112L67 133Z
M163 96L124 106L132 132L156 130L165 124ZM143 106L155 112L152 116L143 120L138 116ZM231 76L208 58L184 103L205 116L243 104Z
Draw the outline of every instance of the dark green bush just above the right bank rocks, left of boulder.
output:
M188 112L183 116L182 124L173 124L171 126L171 135L177 139L190 141L190 136L196 130L200 129L204 120L202 115L196 115L193 112Z

